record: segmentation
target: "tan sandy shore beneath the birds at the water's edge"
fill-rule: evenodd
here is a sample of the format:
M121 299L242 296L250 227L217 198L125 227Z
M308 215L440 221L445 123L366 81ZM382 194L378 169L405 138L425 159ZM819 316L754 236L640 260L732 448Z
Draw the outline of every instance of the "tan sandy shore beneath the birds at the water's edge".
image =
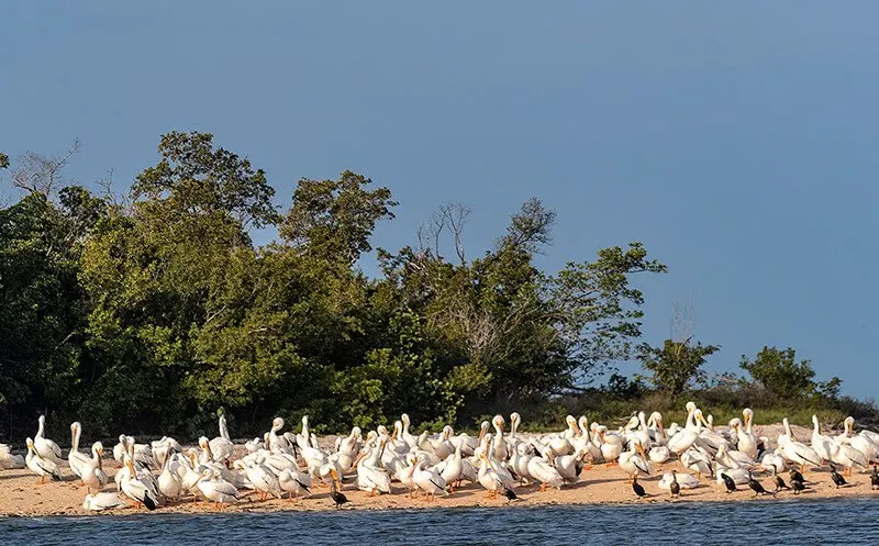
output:
M770 427L768 427L770 428ZM770 431L766 431L770 432ZM798 434L799 437L808 437ZM770 436L771 437L771 436ZM683 490L680 499L671 499L668 491L657 487L663 472L681 467L677 463L655 465L655 476L641 478L638 482L644 486L647 499L637 499L628 484L627 476L617 467L607 467L596 465L590 469L583 470L580 482L566 486L561 490L550 489L538 491L536 486L520 487L515 491L522 499L515 503L520 506L546 505L546 504L614 504L614 503L649 503L649 502L691 502L691 501L747 501L747 502L772 502L775 499L797 499L792 492L782 491L777 498L759 497L754 499L754 493L746 484L738 486L739 491L726 493L723 487L710 477L703 477L702 483L696 489ZM108 475L115 472L114 461L109 460L105 465ZM86 488L79 486L79 481L74 476L66 463L62 467L63 481L49 481L41 486L40 479L27 469L0 470L0 516L48 516L48 515L84 515L84 514L132 514L137 512L146 513L146 510L123 509L107 512L88 512L82 509L82 500L86 497ZM775 489L771 479L767 475L756 476L767 489ZM112 476L111 476L112 478ZM848 478L848 484L836 489L831 480L827 468L810 469L806 468L805 478L809 480L810 489L799 495L801 499L817 498L838 498L838 497L864 497L877 495L879 491L871 491L870 477L868 472L854 473ZM785 479L788 480L787 473ZM426 508L463 508L463 506L504 506L507 500L503 498L488 499L487 492L479 483L466 483L460 489L455 490L448 497L439 497L436 501L425 501L423 499L410 499L405 488L393 483L392 494L380 497L369 497L359 491L355 486L355 477L348 475L344 479L343 492L351 501L343 510L388 510L388 509L426 509ZM104 491L115 491L112 479ZM315 488L311 497L305 497L297 502L288 500L270 499L259 501L256 494L246 498L236 504L226 505L223 511L230 512L277 512L277 511L319 511L334 510L330 499L327 488ZM153 513L196 513L213 512L213 506L191 502L191 498L177 504L158 508Z

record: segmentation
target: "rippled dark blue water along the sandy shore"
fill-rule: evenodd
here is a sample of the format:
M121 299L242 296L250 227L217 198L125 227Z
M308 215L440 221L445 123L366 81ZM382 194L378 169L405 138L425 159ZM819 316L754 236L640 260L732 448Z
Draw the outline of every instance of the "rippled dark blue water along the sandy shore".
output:
M0 520L2 544L876 544L879 500Z

